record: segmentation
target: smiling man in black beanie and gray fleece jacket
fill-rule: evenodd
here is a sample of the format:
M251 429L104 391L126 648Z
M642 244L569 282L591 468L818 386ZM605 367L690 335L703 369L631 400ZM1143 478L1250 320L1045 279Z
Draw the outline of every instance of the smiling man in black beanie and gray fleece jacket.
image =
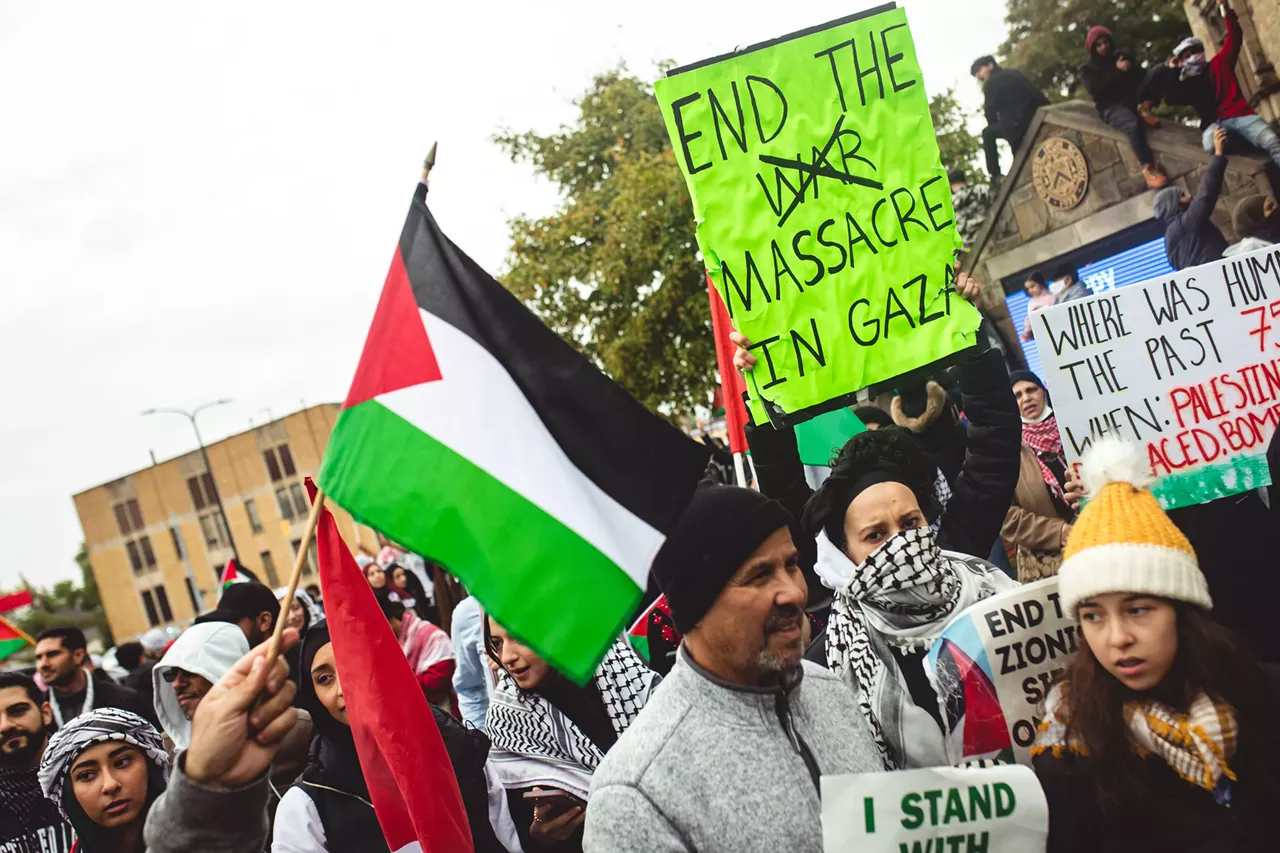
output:
M801 660L792 530L758 492L694 493L653 565L685 642L593 776L586 853L819 853L819 777L883 770L852 692Z

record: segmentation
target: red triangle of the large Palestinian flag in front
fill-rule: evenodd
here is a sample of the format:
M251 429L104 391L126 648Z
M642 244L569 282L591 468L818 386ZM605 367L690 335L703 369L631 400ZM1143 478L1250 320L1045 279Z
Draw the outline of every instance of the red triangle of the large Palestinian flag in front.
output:
M342 407L351 409L379 394L440 378L440 365L426 337L408 270L397 246L356 378L351 380Z

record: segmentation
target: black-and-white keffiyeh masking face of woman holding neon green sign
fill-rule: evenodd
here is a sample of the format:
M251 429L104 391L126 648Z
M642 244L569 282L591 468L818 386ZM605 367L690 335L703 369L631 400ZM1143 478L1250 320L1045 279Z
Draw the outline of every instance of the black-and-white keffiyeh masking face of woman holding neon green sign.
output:
M824 558L849 562L820 537ZM832 602L827 666L856 692L886 768L951 763L946 734L913 702L893 652L927 652L951 617L1012 585L983 560L941 551L929 528L904 530L852 566Z

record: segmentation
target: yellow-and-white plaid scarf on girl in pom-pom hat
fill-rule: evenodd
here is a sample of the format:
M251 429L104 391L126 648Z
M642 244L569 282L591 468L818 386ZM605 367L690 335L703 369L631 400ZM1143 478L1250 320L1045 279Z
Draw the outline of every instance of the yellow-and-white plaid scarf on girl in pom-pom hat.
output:
M1060 756L1064 749L1087 754L1084 744L1074 734L1068 735L1062 720L1065 703L1066 684L1059 684L1044 699L1044 720L1032 756L1046 751ZM1231 706L1204 693L1192 701L1187 713L1153 699L1134 699L1125 702L1124 719L1139 757L1160 756L1175 774L1208 792L1216 790L1224 779L1235 781L1228 766L1235 756L1239 733Z

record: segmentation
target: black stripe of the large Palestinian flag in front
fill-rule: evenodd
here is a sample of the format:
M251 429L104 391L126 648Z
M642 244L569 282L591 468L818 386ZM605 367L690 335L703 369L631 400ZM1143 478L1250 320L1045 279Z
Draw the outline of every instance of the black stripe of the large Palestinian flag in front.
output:
M570 461L630 512L668 533L703 476L707 448L636 402L467 257L431 216L422 184L399 248L417 305L488 350Z

